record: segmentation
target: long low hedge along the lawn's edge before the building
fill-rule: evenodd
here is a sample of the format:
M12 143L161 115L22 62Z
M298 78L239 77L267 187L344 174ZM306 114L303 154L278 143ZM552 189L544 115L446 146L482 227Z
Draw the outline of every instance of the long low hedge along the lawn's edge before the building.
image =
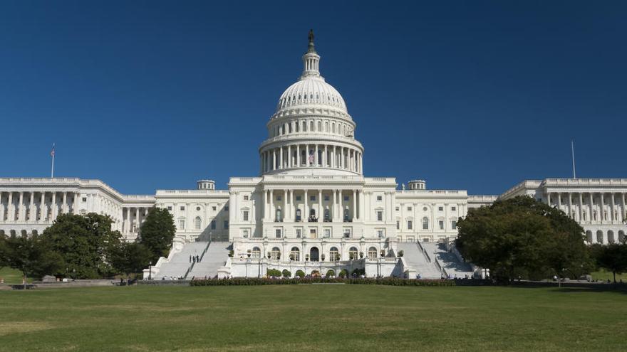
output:
M400 279L398 277L340 278L304 277L302 279L271 279L257 277L234 277L231 279L192 280L191 286L257 286L266 284L382 284L388 286L455 286L455 280L444 279Z

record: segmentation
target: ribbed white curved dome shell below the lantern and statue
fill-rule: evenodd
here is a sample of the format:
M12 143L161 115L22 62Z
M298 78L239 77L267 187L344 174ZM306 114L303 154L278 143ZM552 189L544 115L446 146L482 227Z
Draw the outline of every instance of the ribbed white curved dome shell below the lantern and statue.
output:
M276 111L293 107L331 107L348 114L340 93L319 76L303 77L281 94Z

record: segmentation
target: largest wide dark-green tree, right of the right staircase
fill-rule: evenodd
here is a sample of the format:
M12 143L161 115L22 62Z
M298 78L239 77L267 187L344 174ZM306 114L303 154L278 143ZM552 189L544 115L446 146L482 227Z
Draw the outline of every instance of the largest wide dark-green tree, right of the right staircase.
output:
M556 208L518 196L470 209L457 222L457 249L499 281L578 276L589 264L584 229Z

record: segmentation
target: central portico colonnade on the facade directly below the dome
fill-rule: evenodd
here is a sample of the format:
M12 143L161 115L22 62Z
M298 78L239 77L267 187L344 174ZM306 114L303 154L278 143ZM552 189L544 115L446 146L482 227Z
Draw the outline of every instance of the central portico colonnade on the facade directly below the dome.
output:
M281 197L280 201L277 199L278 196ZM300 201L296 201L298 196L301 196ZM314 200L312 196L315 196ZM324 201L326 196L328 196L328 201ZM348 201L344 201L345 196L348 196ZM358 189L266 189L264 190L263 219L275 222L282 222L284 219L294 222L352 222L363 220L363 205L363 191ZM277 212L277 210L281 211ZM301 210L300 217L298 210ZM314 212L312 213L311 210ZM327 215L324 210L329 210ZM344 210L348 210L348 213Z

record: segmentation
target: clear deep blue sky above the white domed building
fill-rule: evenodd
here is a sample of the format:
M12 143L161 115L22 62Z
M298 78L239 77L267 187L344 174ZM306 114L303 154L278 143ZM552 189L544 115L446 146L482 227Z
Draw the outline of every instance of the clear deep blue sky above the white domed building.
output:
M227 4L228 3L228 4ZM302 4L301 5L297 5ZM0 176L123 193L256 176L314 28L366 176L627 177L624 1L3 1Z

